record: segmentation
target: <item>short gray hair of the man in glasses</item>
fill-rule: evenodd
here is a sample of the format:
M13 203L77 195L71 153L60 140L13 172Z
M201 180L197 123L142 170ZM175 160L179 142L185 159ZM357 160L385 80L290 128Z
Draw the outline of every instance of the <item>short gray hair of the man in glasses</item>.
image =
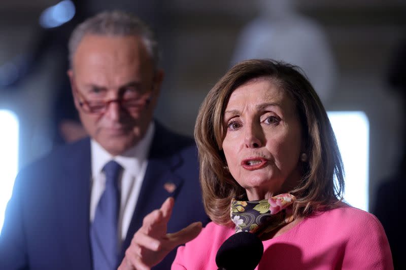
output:
M140 36L148 54L151 56L154 68L159 61L158 42L155 34L138 17L123 11L105 11L88 18L79 24L72 32L68 43L69 62L72 67L73 57L83 37L87 34L108 36Z

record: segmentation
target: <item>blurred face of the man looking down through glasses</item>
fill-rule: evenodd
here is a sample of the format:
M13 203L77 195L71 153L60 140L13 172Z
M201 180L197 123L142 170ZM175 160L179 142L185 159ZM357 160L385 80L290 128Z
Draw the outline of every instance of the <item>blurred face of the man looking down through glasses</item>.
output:
M68 75L88 134L113 156L137 144L152 120L163 78L141 38L85 35L72 65ZM134 97L140 97L139 106L127 108L122 101ZM84 101L107 102L107 107L103 112L89 112L80 105Z

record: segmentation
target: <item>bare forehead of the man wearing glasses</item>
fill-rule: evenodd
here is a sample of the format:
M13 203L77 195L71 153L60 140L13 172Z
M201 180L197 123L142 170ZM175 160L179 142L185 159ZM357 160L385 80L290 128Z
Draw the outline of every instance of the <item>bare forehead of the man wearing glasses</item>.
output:
M114 86L149 82L155 69L139 37L87 35L74 55L73 72L78 82Z

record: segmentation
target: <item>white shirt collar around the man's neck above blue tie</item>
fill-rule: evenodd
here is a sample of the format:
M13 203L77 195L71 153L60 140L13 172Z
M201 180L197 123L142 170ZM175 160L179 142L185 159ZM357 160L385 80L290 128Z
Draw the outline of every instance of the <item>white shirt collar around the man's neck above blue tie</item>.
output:
M112 156L105 148L103 148L94 139L90 141L91 147L91 168L92 177L98 175L105 164L111 160L115 160L124 170L128 171L133 176L137 176L142 163L147 159L149 148L155 131L155 124L151 122L148 126L144 138L139 143L126 150L120 156Z

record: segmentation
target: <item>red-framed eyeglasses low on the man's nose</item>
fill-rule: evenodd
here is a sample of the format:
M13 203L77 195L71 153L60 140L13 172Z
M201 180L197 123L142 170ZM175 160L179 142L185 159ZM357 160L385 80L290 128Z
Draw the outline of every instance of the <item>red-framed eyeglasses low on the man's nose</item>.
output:
M117 98L111 100L86 100L85 97L78 91L74 90L79 97L79 105L86 113L104 113L107 111L109 104L117 102L120 108L128 112L137 111L143 106L147 106L151 101L151 93L132 93L130 98Z

